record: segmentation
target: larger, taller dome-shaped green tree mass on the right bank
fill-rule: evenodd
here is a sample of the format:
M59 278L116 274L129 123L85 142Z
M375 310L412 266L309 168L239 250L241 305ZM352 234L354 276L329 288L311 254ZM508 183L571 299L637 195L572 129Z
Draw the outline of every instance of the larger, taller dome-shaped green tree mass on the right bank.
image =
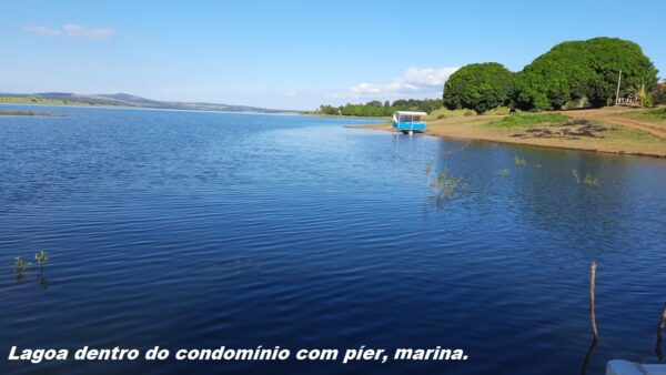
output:
M615 101L622 70L620 97L652 90L657 69L634 42L594 38L555 45L516 74L516 103L524 110L562 109L585 99L599 108Z

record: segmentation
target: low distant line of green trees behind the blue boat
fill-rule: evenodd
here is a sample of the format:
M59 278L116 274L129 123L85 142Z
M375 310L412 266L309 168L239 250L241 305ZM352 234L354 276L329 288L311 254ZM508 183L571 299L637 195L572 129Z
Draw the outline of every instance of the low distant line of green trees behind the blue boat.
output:
M390 116L395 111L423 111L432 112L442 107L442 100L440 99L400 99L390 103L380 101L370 101L365 104L351 104L347 103L341 107L333 105L320 105L317 112L329 115L356 115L356 116L373 116L383 118Z

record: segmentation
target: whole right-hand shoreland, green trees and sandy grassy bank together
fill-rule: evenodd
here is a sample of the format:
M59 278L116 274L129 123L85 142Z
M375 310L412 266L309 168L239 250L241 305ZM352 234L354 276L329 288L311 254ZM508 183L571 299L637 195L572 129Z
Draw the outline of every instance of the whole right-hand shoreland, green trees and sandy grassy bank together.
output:
M465 65L445 82L441 100L322 105L319 112L418 110L430 113L432 135L666 158L666 84L657 73L638 44L594 38L557 44L519 72L496 62Z

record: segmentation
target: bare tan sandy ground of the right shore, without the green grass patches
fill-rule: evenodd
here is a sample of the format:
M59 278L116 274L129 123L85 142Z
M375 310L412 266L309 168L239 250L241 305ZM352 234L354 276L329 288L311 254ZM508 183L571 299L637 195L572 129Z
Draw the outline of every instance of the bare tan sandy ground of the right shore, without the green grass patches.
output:
M547 129L557 133L562 128L537 125L532 128L501 128L490 125L503 115L474 115L431 120L426 134L458 139L523 144L543 148L583 150L618 154L666 158L666 124L648 123L626 116L627 109L602 109L562 112L573 119L589 120L606 130L594 136L557 136L539 133ZM391 131L391 124L360 126Z

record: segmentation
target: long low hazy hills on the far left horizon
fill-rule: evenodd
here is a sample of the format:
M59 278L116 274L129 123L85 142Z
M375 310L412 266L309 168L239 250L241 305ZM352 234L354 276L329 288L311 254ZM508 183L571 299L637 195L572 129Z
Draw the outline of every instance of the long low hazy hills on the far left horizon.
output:
M216 103L167 102L145 99L128 93L79 94L71 92L40 92L33 94L0 93L0 103L36 103L58 105L113 105L132 108L154 108L169 110L228 111L256 113L287 113L300 111L274 110L249 105Z

